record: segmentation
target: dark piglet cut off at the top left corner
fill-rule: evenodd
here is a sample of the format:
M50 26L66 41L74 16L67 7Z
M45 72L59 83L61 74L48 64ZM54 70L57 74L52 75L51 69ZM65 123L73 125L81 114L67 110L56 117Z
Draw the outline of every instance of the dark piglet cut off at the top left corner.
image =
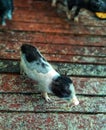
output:
M13 9L13 0L0 0L0 23L3 26L6 25L6 19L12 19Z

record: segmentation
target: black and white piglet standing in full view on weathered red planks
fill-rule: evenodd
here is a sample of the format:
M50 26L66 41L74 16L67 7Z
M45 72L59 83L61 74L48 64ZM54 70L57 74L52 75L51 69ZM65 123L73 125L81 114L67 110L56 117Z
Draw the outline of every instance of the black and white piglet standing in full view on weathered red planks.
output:
M39 91L46 101L50 101L47 93L52 93L59 98L72 101L74 105L79 104L72 80L56 72L34 46L21 46L20 70L38 82Z

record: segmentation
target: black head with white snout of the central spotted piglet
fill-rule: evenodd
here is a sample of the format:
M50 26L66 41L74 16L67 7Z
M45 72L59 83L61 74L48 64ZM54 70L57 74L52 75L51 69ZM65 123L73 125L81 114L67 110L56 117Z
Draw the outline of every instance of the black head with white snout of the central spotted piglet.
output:
M72 80L67 76L59 76L53 80L51 90L57 97L72 102L74 105L79 104Z

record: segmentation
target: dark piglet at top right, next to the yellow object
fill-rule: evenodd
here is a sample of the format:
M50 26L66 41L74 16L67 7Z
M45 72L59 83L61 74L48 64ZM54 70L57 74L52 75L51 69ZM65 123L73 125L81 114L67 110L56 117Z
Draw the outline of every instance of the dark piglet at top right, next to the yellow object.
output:
M70 11L74 6L76 6L76 10L73 16L75 21L78 21L78 14L80 9L85 8L91 12L106 12L106 0L67 0L68 5L68 13L71 18Z

